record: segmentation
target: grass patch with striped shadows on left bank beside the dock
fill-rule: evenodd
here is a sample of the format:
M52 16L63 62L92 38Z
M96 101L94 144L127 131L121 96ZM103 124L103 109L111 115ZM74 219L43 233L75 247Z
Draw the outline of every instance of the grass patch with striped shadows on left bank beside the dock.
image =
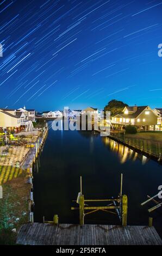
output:
M27 171L0 166L0 185L3 198L0 199L0 245L15 243L16 234L11 229L28 222L28 199L30 184Z

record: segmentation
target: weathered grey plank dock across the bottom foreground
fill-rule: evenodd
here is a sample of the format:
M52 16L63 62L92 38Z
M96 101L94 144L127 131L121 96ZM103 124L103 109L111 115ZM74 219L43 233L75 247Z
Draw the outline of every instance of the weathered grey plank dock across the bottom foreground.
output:
M26 223L18 231L20 245L162 245L154 227L90 224Z

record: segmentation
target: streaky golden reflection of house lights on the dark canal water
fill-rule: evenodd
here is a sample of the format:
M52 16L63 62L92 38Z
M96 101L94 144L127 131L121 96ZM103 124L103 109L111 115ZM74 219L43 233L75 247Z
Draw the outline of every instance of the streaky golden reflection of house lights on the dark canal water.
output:
M148 162L148 158L146 156L136 153L125 145L113 141L113 139L108 137L101 137L101 139L105 147L117 153L120 163L125 163L127 160L132 160L134 162L136 159L140 159L142 164L146 164Z

